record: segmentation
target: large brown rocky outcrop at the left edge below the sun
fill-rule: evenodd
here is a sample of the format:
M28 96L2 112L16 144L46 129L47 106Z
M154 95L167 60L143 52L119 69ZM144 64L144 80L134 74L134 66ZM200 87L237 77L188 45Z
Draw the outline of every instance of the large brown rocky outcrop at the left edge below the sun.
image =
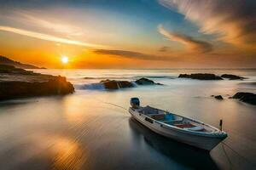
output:
M2 72L1 72L2 71ZM0 65L0 100L74 92L66 77L54 77Z

